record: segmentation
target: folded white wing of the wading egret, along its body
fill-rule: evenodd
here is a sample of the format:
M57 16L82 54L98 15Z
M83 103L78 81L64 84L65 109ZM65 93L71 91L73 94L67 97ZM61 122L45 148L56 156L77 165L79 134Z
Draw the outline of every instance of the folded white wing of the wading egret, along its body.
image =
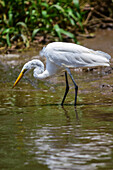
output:
M110 55L101 51L94 51L86 47L54 42L47 45L43 54L52 63L61 67L91 67L109 65Z

